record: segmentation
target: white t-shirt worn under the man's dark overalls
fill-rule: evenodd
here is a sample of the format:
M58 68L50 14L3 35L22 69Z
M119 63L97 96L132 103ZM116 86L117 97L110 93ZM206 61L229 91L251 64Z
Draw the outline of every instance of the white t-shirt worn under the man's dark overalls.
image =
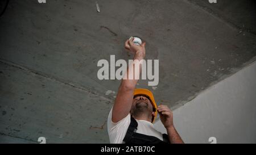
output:
M113 109L113 108L112 108ZM128 114L119 122L114 123L112 122L112 109L109 112L108 117L108 133L109 133L109 140L110 143L121 144L124 143L123 139L125 138L127 129L131 122L131 115ZM154 125L146 120L137 120L138 127L137 133L142 133L148 136L155 136L160 140L163 140L163 135L161 132L157 131L154 128Z

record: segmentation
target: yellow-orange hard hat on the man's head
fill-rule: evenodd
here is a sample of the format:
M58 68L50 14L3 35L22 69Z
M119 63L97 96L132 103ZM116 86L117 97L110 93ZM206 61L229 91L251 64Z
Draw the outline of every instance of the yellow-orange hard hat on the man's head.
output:
M155 117L152 118L152 123L153 123L155 121L156 116L158 115L158 111L156 110L157 105L156 105L153 93L148 89L135 89L133 95L134 97L144 96L150 100L153 107L153 111L155 112Z

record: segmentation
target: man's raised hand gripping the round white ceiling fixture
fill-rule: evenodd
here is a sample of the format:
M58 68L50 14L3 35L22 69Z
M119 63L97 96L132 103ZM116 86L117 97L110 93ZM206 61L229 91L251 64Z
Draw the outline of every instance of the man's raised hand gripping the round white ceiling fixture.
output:
M146 42L143 42L141 45L135 45L133 43L134 37L132 39L128 39L125 41L125 48L129 51L133 52L134 54L137 54L137 52L141 53L143 56L145 56L145 45Z

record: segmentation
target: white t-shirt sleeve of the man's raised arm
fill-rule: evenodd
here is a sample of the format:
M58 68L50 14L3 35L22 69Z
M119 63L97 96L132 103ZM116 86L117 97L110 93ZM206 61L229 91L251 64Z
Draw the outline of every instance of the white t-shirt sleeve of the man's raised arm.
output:
M127 129L131 122L131 115L128 114L119 122L114 123L112 122L112 110L111 108L108 116L108 133L109 133L109 140L110 143L120 144L123 143L123 139L125 138Z

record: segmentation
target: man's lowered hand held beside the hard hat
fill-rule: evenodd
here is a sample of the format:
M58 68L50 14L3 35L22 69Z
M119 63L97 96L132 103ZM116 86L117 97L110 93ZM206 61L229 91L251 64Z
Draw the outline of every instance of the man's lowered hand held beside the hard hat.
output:
M170 108L168 108L168 106L165 106L165 105L159 105L157 110L159 112L160 120L163 123L164 127L165 128L173 127L174 126L173 115Z

